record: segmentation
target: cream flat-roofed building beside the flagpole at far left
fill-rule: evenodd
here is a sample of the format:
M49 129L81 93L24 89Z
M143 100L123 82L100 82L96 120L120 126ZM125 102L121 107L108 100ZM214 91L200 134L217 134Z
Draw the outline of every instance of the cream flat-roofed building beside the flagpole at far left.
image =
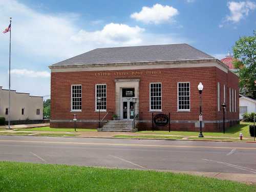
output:
M8 120L9 91L0 87L0 117ZM30 96L29 93L18 93L11 90L11 121L42 120L43 98ZM32 121L31 121L32 122Z

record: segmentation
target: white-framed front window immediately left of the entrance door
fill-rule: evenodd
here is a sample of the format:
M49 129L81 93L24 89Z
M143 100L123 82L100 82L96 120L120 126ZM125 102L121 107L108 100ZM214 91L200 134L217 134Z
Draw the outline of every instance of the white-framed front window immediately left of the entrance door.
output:
M97 98L101 98L101 103L97 103ZM106 84L95 85L95 110L106 111Z

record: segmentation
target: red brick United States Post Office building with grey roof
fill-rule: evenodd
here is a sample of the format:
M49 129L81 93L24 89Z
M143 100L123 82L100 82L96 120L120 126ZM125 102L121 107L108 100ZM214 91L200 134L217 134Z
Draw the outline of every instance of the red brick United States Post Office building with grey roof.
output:
M170 113L171 130L203 131L239 121L238 77L220 60L187 44L101 48L55 63L51 69L51 127L98 127L117 115L137 115L139 130L152 129L152 113ZM101 104L97 103L100 97ZM132 98L137 98L135 104ZM157 127L160 130L167 126Z

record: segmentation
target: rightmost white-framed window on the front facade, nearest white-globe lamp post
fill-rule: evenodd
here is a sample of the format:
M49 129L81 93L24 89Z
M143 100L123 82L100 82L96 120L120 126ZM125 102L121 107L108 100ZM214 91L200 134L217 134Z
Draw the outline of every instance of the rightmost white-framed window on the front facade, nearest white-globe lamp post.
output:
M178 111L190 110L190 83L178 82Z

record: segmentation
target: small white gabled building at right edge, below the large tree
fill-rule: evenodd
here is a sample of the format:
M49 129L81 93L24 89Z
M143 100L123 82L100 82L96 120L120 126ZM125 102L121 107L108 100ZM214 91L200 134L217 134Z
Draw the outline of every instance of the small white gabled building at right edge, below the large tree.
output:
M256 100L239 95L239 118L243 119L245 113L256 113Z

